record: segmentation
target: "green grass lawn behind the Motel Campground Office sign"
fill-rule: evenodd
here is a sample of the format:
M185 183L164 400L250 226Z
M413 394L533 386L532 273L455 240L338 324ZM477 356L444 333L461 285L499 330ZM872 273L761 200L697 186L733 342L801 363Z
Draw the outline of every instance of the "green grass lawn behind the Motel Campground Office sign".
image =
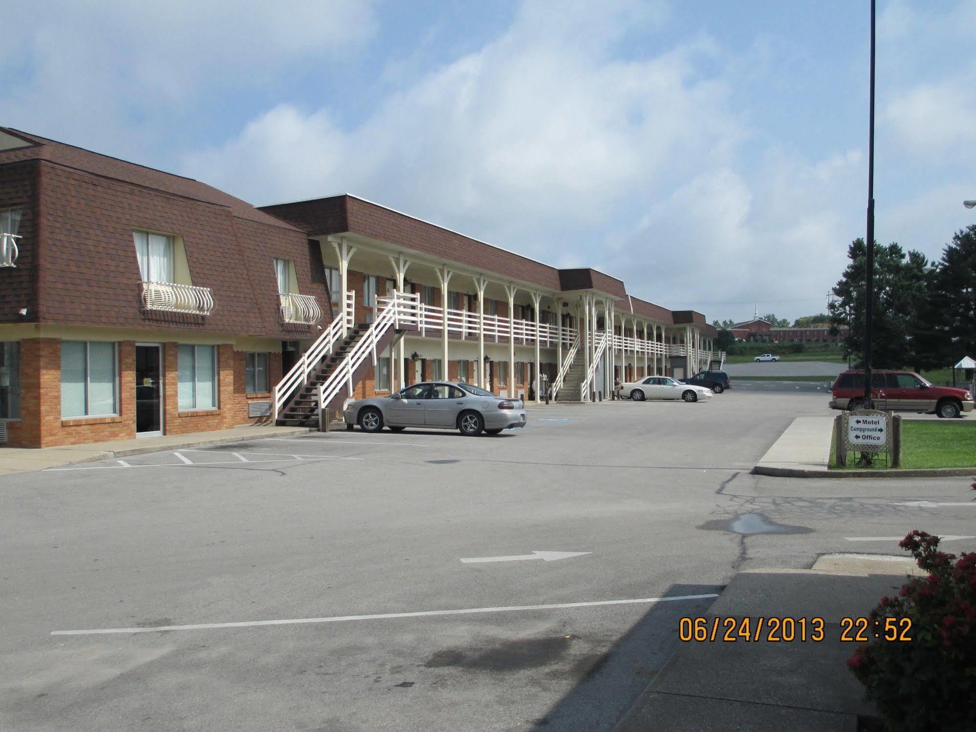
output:
M833 446L830 466L837 467ZM902 468L976 468L976 420L903 420ZM870 472L872 468L837 469Z

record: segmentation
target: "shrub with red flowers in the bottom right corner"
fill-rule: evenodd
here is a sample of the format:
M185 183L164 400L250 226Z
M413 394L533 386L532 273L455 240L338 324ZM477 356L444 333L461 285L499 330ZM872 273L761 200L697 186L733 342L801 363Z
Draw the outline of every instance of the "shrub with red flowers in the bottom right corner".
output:
M898 546L911 551L928 576L882 597L871 620L881 630L887 618L910 619L912 639L885 640L882 630L879 639L857 647L847 666L889 729L974 730L976 552L956 557L940 551L939 537L924 531L913 531Z

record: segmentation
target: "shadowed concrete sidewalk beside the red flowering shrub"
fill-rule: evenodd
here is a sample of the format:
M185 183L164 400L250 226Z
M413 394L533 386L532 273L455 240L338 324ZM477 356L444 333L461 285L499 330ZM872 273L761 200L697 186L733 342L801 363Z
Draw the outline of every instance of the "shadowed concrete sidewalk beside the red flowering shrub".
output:
M682 643L615 732L854 732L874 716L847 670L856 643L840 639L841 618L867 616L884 595L917 573L911 558L857 554L821 557L809 570L753 570L733 578L706 614L725 619L823 618L822 641L797 639ZM733 621L730 621L730 623ZM807 626L808 634L811 627Z

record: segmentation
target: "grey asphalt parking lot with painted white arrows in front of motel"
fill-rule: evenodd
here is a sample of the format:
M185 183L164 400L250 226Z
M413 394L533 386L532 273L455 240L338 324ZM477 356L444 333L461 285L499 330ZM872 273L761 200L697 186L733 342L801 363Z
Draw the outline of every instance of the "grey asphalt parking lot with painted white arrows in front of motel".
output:
M496 437L0 477L0 727L612 729L738 570L971 530L967 508L901 505L968 501L967 479L749 473L826 399L553 404ZM781 533L736 533L746 513Z

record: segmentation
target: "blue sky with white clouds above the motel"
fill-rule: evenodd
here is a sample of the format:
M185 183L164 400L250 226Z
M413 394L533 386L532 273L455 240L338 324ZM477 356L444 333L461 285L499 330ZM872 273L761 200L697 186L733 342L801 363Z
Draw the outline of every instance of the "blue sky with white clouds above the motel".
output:
M711 318L864 233L868 2L3 0L0 124L261 205L353 192ZM877 238L976 221L976 3L878 3Z

